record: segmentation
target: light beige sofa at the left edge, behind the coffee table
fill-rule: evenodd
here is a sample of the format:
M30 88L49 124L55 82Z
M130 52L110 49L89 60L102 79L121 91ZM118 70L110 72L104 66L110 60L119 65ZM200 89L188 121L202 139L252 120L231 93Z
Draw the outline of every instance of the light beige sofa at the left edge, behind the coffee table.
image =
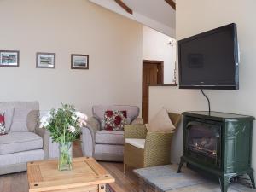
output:
M8 122L8 134L0 136L0 175L26 171L28 161L57 157L57 144L38 128L38 102L0 102L0 113Z

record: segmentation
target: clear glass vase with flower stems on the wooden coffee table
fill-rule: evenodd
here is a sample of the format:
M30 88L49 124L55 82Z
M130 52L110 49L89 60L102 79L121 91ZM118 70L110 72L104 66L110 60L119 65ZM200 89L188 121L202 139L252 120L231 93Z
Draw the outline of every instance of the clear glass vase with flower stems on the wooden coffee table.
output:
M59 143L59 171L72 170L72 142Z

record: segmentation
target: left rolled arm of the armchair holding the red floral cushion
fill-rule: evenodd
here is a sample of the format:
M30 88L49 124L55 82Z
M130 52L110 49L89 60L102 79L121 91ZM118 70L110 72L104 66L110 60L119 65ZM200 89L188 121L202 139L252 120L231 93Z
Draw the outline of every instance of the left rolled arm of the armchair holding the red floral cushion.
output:
M87 125L81 129L81 148L84 156L93 156L95 146L95 135L101 130L100 122L91 117L87 120Z

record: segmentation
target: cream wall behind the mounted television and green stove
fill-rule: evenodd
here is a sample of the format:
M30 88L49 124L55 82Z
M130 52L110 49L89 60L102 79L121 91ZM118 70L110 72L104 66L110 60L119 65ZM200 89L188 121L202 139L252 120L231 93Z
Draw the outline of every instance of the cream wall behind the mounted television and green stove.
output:
M177 40L187 38L218 26L236 22L241 49L240 90L206 90L212 110L244 113L256 117L256 1L247 0L178 0ZM152 117L162 106L173 112L207 110L207 101L199 90L178 90L173 87L150 87L149 115ZM256 131L253 130L253 168L256 169ZM172 145L172 160L182 155L182 127Z

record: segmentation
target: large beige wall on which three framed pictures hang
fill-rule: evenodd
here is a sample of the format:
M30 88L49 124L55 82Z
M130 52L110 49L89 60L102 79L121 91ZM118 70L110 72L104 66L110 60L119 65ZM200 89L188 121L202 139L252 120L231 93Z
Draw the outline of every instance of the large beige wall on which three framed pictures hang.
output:
M141 105L142 26L87 0L0 0L0 49L20 50L20 67L0 68L0 101L38 100L42 110L72 103ZM55 52L56 69L36 68ZM90 70L71 70L89 54Z

